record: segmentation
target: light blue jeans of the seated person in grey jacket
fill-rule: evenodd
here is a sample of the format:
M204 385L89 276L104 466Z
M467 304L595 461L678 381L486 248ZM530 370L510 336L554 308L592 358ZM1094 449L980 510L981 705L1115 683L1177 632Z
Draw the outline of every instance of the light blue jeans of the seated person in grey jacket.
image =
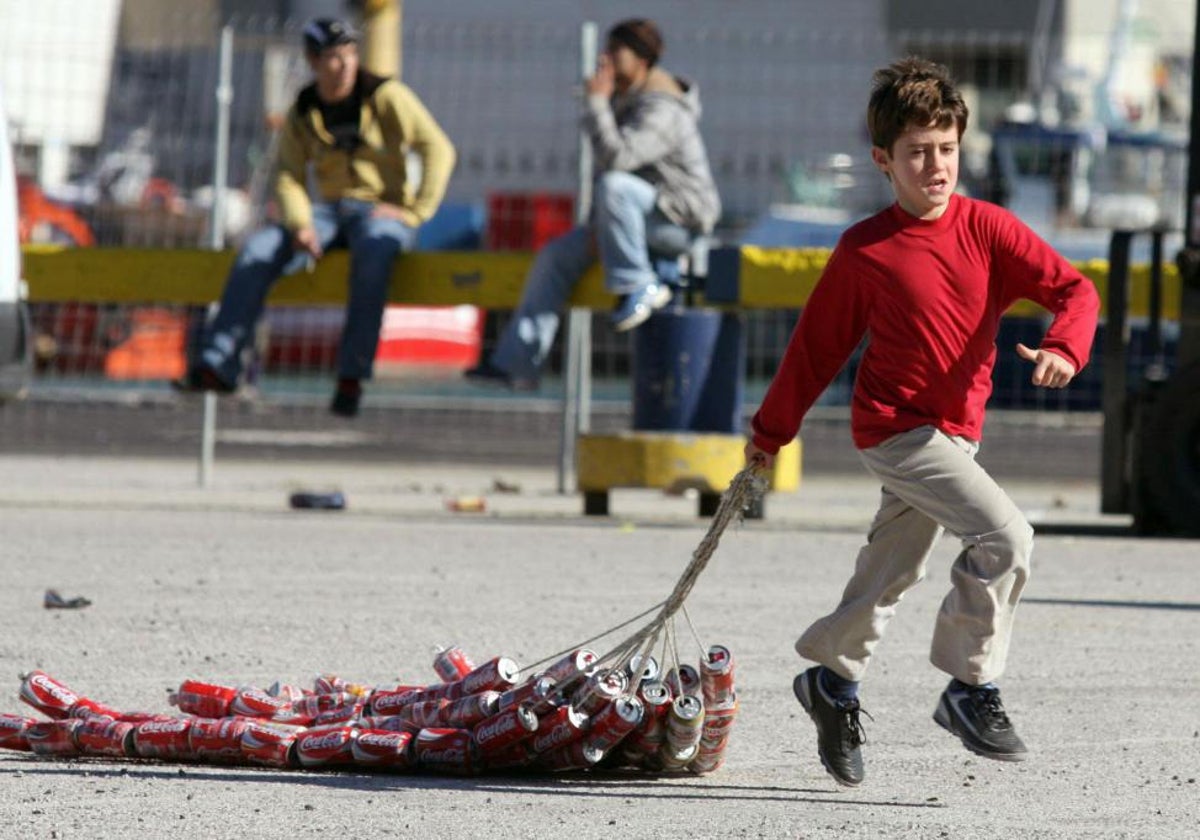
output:
M655 208L656 196L654 186L626 172L606 172L596 179L592 223L551 240L538 253L521 304L492 353L492 365L514 379L538 379L563 308L596 252L605 286L613 294L658 282L647 242L666 241L683 251L690 234Z

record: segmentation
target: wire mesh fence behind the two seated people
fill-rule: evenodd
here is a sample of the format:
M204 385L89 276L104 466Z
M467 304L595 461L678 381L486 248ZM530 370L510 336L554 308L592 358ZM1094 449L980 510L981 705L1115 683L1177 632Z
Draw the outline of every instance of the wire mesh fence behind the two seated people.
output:
M6 7L5 20L29 25L6 25L7 36L0 35L8 61L6 97L10 110L16 108L8 116L26 175L22 204L30 215L30 239L80 247L198 247L209 241L216 49L226 23L235 31L229 241L236 244L270 216L275 130L308 76L298 22L224 18L212 4L197 4L200 11L164 5L154 19L134 19L110 4L110 48L85 68L102 77L92 79L88 95L100 97L103 107L92 108L86 131L68 131L65 122L56 128L53 113L70 107L54 103L74 101L62 97L79 96L72 83L47 82L31 68L11 71L18 61L28 60L30 67L62 62L53 53L68 46L70 18L61 10L71 4L46 5L60 10L56 20L38 17L26 4ZM95 4L94 12L104 6ZM1099 132L1094 114L1072 94L1072 84L1079 88L1074 77L1056 89L1057 125L1003 121L1021 115L1014 103L1045 104L1031 94L1031 84L1038 67L1046 76L1054 64L1044 53L1069 52L1070 34L1061 30L1050 40L913 32L890 23L886 4L878 2L746 2L737 14L728 4L707 0L649 6L654 8L647 13L667 34L665 66L701 89L701 127L726 208L719 238L726 242L830 246L846 224L890 200L887 184L869 163L863 109L871 71L910 52L947 61L965 83L978 119L964 148L964 187L1009 204L1069 257L1103 257L1115 214L1133 214L1142 224L1178 223L1186 162L1178 130L1187 114L1177 91L1188 84L1181 76L1188 56L1166 50L1147 65L1153 78L1146 102L1153 107L1141 107L1140 121L1127 131ZM446 203L422 230L421 247L529 248L571 223L578 180L580 23L595 10L540 2L514 10L502 14L480 6L468 14L432 2L406 4L404 82L458 151ZM1096 47L1110 37L1103 32L1075 41ZM1135 66L1126 76L1138 72ZM1126 98L1133 114L1136 97ZM43 101L50 104L42 110L30 104ZM37 301L32 308L37 373L24 402L0 408L5 449L180 454L197 443L198 401L174 395L167 383L181 372L203 311ZM746 313L748 410L769 380L796 314ZM364 414L353 425L331 426L325 408L341 310L272 308L246 388L222 402L218 443L228 451L286 446L314 456L552 462L563 389L558 350L541 392L478 392L462 382L461 370L491 348L506 313L422 317L431 323L440 318L440 328L414 325L402 308L389 311L391 328L385 323ZM1006 322L992 400L1002 409L1000 425L1003 409L1010 409L1031 412L1008 416L1020 418L1026 442L1030 434L1054 434L1067 426L1073 433L1094 433L1098 366L1068 391L1039 391L1008 352L1016 341L1036 342L1042 329L1036 319ZM1160 353L1168 366L1172 330L1168 324ZM1148 360L1136 348L1135 331L1130 365L1140 370ZM604 313L593 318L592 361L593 427L626 426L629 340L611 331ZM821 416L838 433L853 372L852 361L822 401ZM812 457L820 461L821 454ZM1097 472L1094 461L1073 470Z

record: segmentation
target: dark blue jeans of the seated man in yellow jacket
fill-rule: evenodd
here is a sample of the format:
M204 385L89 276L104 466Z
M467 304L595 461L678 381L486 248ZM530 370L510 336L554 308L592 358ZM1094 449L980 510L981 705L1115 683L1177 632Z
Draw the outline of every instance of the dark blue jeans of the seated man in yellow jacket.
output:
M337 354L338 377L346 379L371 378L392 263L416 241L415 228L372 216L373 210L371 202L350 198L313 204L312 209L322 250L346 246L350 251L350 290ZM242 349L263 314L271 286L305 268L310 259L295 248L292 233L278 224L256 230L242 245L200 350L202 362L222 380L230 385L238 382Z

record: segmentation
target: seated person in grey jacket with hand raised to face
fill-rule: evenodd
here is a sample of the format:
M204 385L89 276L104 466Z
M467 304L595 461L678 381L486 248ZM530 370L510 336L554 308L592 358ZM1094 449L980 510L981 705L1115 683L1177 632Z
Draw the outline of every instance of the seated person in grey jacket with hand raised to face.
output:
M620 296L613 326L631 330L671 299L647 242L673 238L683 251L691 236L712 232L721 204L697 127L700 95L658 66L661 54L662 36L650 20L624 20L608 31L583 113L599 170L592 218L541 250L496 350L467 371L468 379L535 389L562 311L596 257L606 287Z

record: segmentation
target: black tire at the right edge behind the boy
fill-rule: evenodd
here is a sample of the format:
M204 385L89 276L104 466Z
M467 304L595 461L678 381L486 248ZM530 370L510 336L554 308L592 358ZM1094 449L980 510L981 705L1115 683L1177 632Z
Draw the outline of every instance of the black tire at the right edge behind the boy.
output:
M1157 395L1141 446L1154 530L1200 536L1200 364L1178 371Z

